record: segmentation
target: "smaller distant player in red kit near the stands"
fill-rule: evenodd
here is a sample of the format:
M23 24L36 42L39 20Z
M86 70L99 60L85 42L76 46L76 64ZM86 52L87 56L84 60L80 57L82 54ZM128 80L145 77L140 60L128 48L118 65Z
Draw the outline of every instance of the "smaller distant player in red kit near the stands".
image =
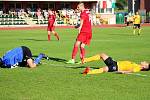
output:
M54 23L56 20L56 15L54 11L51 9L48 10L48 27L47 27L47 33L48 33L48 41L50 41L51 38L51 32L54 34L54 36L59 40L58 34L54 31Z

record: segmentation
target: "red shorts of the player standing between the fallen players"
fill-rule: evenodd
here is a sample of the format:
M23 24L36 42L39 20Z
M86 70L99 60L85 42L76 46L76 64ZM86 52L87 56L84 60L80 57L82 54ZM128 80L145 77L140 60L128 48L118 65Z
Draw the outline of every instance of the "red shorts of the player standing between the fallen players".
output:
M77 36L77 41L80 41L86 45L90 45L92 39L92 33L79 33Z

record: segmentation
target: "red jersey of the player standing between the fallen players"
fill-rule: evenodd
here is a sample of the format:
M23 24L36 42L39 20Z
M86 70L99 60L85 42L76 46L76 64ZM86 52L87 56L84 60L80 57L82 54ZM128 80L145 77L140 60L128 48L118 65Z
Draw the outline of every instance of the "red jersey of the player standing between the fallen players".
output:
M89 10L84 10L80 14L80 19L83 20L83 25L80 33L92 33L91 18Z

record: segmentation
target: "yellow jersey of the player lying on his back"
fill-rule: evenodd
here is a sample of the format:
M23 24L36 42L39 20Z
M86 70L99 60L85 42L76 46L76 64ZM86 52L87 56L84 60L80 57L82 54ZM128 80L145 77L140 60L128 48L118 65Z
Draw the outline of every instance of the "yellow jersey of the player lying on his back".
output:
M118 71L132 71L139 72L141 70L140 65L131 61L118 61Z

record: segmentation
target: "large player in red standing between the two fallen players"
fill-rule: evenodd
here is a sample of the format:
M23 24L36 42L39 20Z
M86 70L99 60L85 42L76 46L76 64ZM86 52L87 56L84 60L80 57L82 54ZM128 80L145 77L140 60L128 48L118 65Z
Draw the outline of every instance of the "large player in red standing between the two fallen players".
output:
M85 56L85 45L90 44L90 40L92 38L92 28L91 28L91 20L89 10L85 9L84 3L79 3L77 9L81 12L80 14L80 26L79 26L79 34L76 38L76 42L74 44L74 48L72 51L72 59L69 60L68 64L75 63L75 57L78 52L78 47L80 47L80 58L81 62L84 61Z

